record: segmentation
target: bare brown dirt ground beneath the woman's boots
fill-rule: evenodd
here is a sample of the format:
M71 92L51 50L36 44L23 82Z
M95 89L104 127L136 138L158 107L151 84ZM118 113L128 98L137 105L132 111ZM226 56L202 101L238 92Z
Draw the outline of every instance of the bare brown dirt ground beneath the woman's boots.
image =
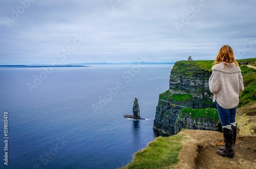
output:
M234 158L219 156L216 151L224 146L223 133L206 130L182 130L188 139L184 140L184 148L180 162L170 168L256 168L256 135L238 134Z

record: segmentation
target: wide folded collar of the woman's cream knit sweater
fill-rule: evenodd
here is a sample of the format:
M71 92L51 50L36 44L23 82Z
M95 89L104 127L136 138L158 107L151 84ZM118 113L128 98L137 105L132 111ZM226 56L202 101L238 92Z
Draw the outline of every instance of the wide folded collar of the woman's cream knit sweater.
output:
M237 73L237 72L240 72L241 69L239 66L236 65L236 63L226 63L225 62L221 62L221 63L218 63L214 66L211 67L212 70L219 70L219 71L223 71L225 73Z

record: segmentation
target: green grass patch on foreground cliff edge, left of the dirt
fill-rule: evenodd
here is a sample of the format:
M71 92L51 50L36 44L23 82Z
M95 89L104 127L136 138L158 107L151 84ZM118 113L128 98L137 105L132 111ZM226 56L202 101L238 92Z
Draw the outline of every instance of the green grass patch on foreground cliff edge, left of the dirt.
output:
M186 139L186 137L184 135L159 136L150 142L145 149L136 152L133 161L124 168L152 169L171 166L179 162L178 156L183 148L182 139Z

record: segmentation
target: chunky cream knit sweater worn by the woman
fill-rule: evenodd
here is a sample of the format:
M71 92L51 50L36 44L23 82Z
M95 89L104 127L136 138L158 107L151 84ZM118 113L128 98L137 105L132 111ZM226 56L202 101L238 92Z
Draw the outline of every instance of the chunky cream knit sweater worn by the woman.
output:
M209 78L210 92L214 93L212 102L225 109L231 109L239 103L239 93L244 90L241 69L235 63L224 62L212 66Z

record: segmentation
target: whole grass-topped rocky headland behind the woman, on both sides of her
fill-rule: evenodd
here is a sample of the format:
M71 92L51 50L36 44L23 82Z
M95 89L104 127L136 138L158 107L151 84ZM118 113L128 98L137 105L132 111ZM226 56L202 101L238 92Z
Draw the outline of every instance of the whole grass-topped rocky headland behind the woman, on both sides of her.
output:
M256 59L237 60L242 70L244 91L238 107L256 102ZM208 79L213 60L178 61L170 71L169 89L159 94L153 129L164 136L181 129L220 131L216 105ZM190 109L183 109L183 108ZM207 109L206 109L207 108ZM191 115L191 114L197 115Z

